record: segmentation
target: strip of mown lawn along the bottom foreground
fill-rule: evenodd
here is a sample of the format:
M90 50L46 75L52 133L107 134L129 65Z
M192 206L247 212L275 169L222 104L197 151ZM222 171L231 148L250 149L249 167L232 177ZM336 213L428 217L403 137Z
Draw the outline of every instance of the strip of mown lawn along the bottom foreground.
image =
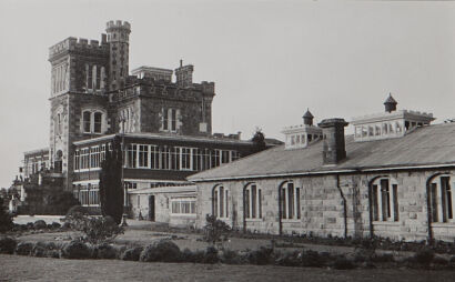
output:
M0 281L453 281L452 271L328 270L0 255ZM83 271L81 271L83 270Z

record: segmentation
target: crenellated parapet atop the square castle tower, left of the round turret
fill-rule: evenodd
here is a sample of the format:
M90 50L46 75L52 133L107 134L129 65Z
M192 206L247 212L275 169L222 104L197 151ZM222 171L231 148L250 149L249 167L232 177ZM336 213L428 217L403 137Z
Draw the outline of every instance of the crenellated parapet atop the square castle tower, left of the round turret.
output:
M63 41L60 41L59 43L52 46L49 48L49 59L67 52L67 51L109 51L109 46L105 44L104 42L98 41L98 40L88 40L84 38L67 38Z

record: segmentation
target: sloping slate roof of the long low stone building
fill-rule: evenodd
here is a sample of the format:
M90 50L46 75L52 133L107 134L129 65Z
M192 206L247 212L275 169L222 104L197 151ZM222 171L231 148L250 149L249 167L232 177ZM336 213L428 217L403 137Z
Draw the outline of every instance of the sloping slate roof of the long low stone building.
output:
M304 149L284 145L249 155L188 178L190 181L247 179L358 170L400 169L423 165L455 165L455 123L417 128L402 138L354 142L346 135L347 158L336 165L323 165L322 141Z

